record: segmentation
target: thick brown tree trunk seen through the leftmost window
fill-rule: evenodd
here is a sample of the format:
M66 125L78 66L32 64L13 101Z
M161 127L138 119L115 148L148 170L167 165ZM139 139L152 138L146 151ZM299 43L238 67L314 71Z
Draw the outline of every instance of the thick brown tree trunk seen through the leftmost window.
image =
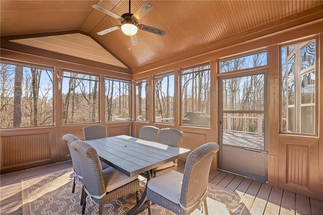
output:
M22 97L23 67L16 66L14 94L14 127L21 126L21 97Z

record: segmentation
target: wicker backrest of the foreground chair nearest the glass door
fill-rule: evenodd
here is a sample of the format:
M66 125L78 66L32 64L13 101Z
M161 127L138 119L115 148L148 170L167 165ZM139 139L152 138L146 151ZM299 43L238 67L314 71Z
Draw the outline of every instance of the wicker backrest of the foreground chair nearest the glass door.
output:
M219 144L210 142L197 147L189 153L184 169L180 198L180 202L184 207L194 205L203 198L207 191L212 158L217 151L219 151Z

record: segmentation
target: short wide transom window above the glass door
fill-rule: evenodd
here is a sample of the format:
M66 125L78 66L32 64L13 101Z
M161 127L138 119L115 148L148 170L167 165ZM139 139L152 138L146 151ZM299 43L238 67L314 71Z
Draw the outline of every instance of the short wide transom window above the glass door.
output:
M249 69L267 65L267 52L259 52L240 58L220 62L220 73Z

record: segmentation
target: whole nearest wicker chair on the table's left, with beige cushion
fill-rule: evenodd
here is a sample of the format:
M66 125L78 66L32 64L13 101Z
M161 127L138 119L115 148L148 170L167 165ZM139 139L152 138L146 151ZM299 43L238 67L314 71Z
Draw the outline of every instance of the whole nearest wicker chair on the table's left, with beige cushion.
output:
M75 140L71 147L76 151L83 174L83 207L85 212L86 201L94 201L99 204L99 214L103 214L103 205L136 192L137 202L139 201L139 179L138 176L128 177L113 167L102 171L99 157L96 150L82 140Z

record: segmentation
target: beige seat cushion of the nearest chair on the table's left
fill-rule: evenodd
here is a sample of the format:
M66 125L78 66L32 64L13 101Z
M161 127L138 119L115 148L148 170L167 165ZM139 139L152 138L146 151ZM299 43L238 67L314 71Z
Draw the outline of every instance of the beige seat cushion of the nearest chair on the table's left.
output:
M138 176L129 177L113 167L108 167L102 172L106 186L106 192L111 192L138 178Z

